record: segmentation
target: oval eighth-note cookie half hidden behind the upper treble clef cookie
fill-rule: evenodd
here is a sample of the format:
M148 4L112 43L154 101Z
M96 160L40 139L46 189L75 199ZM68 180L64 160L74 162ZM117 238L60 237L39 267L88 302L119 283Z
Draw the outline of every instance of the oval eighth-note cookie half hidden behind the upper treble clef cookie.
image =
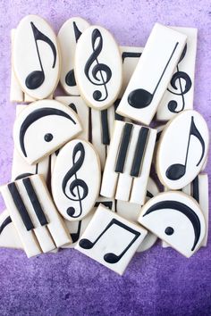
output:
M64 91L71 96L79 96L74 75L75 48L80 35L90 26L89 22L79 17L71 18L63 23L58 32L58 41L61 47L61 74L60 82Z

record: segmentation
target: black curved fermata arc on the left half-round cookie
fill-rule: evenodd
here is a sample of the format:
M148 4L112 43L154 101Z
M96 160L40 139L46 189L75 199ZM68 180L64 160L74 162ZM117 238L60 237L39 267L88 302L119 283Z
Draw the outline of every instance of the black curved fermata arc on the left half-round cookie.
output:
M25 157L27 157L27 154L26 154L26 149L24 146L24 137L25 137L27 129L29 129L30 125L33 124L35 121L38 121L39 119L48 115L63 116L64 118L71 120L73 124L76 124L76 122L72 119L72 117L68 115L66 112L63 112L61 110L58 110L52 107L43 107L41 109L31 112L27 116L27 118L22 122L21 129L20 129L21 151Z

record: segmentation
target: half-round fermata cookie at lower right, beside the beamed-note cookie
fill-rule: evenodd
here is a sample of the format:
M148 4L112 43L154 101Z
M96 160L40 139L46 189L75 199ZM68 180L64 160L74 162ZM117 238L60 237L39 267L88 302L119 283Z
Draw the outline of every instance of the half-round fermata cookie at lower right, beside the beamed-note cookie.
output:
M142 207L139 223L188 258L198 250L206 233L198 203L175 191L150 199Z

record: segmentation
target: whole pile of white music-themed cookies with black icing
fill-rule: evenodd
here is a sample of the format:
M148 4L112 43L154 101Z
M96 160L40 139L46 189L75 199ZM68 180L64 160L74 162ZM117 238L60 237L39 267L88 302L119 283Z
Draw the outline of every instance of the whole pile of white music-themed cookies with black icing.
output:
M57 37L42 18L22 19L12 30L19 104L0 246L28 257L74 247L122 274L157 237L186 257L207 245L196 50L197 29L156 23L143 48L118 46L81 18Z

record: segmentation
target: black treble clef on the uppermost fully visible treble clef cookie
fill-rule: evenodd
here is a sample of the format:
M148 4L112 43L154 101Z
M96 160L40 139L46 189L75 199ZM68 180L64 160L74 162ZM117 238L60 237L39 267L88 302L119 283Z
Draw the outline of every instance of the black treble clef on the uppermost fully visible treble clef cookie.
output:
M97 60L97 56L100 54L103 48L103 37L98 29L93 30L91 43L92 43L93 53L90 55L89 60L87 61L85 65L84 72L85 72L86 77L89 79L89 81L93 85L104 86L105 96L103 98L101 98L102 97L101 91L96 90L93 93L94 100L102 102L102 101L105 101L105 99L108 96L106 84L112 78L112 71L107 65L105 65L105 63L100 63ZM97 43L97 46L96 46L96 43ZM89 76L89 70L94 62L97 62L97 64L92 68L91 73L95 81L93 81L93 79L91 79ZM100 74L100 79L97 77L98 74Z

